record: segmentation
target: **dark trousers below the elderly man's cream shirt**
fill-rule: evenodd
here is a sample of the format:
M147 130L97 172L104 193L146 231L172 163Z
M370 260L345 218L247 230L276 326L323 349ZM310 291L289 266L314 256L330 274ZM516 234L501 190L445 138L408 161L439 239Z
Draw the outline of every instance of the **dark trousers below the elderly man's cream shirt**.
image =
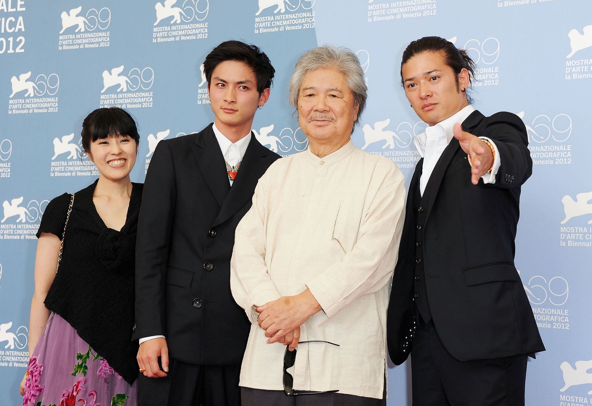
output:
M366 398L355 395L330 394L288 396L284 391L266 391L264 389L240 388L243 406L384 406L382 399Z

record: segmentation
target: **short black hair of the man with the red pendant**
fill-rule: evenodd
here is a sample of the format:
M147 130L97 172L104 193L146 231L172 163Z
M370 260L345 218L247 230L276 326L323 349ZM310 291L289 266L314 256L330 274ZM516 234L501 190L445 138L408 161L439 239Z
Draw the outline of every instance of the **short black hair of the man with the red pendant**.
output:
M255 73L257 79L257 91L259 95L267 88L271 88L274 82L275 69L269 62L268 56L255 45L245 44L242 41L224 41L215 47L204 61L205 79L208 86L212 79L212 73L216 66L227 60L243 62Z

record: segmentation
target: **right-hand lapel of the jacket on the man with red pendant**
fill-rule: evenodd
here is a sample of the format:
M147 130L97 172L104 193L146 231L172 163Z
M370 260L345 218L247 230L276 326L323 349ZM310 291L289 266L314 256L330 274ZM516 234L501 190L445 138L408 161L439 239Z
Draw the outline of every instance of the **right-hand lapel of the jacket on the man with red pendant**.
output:
M239 172L236 174L236 179L232 183L230 192L224 199L224 203L220 208L220 213L214 221L213 225L223 223L228 220L234 213L240 210L247 201L253 198L255 186L259 178L269 167L268 161L262 159L269 154L269 150L263 147L255 135L251 133L251 140L249 146L244 153L242 163L240 164ZM228 182L226 182L228 183Z

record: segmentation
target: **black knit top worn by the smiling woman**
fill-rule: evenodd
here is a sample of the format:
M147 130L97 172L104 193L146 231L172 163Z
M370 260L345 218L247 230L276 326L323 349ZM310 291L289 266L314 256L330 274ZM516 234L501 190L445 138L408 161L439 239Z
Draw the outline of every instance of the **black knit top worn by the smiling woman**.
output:
M92 195L96 182L76 192L66 227L62 261L45 299L46 307L70 323L81 339L133 384L138 375L134 325L134 246L142 194L133 183L121 231L102 221ZM72 195L54 198L43 213L37 237L62 239Z

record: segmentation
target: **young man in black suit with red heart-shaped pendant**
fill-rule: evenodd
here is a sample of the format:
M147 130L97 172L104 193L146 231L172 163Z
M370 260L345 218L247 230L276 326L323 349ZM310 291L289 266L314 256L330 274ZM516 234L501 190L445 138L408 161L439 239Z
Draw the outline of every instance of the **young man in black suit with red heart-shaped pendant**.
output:
M234 230L279 156L251 131L274 67L226 41L204 62L214 123L157 145L136 244L139 404L240 405L250 323L230 293Z

